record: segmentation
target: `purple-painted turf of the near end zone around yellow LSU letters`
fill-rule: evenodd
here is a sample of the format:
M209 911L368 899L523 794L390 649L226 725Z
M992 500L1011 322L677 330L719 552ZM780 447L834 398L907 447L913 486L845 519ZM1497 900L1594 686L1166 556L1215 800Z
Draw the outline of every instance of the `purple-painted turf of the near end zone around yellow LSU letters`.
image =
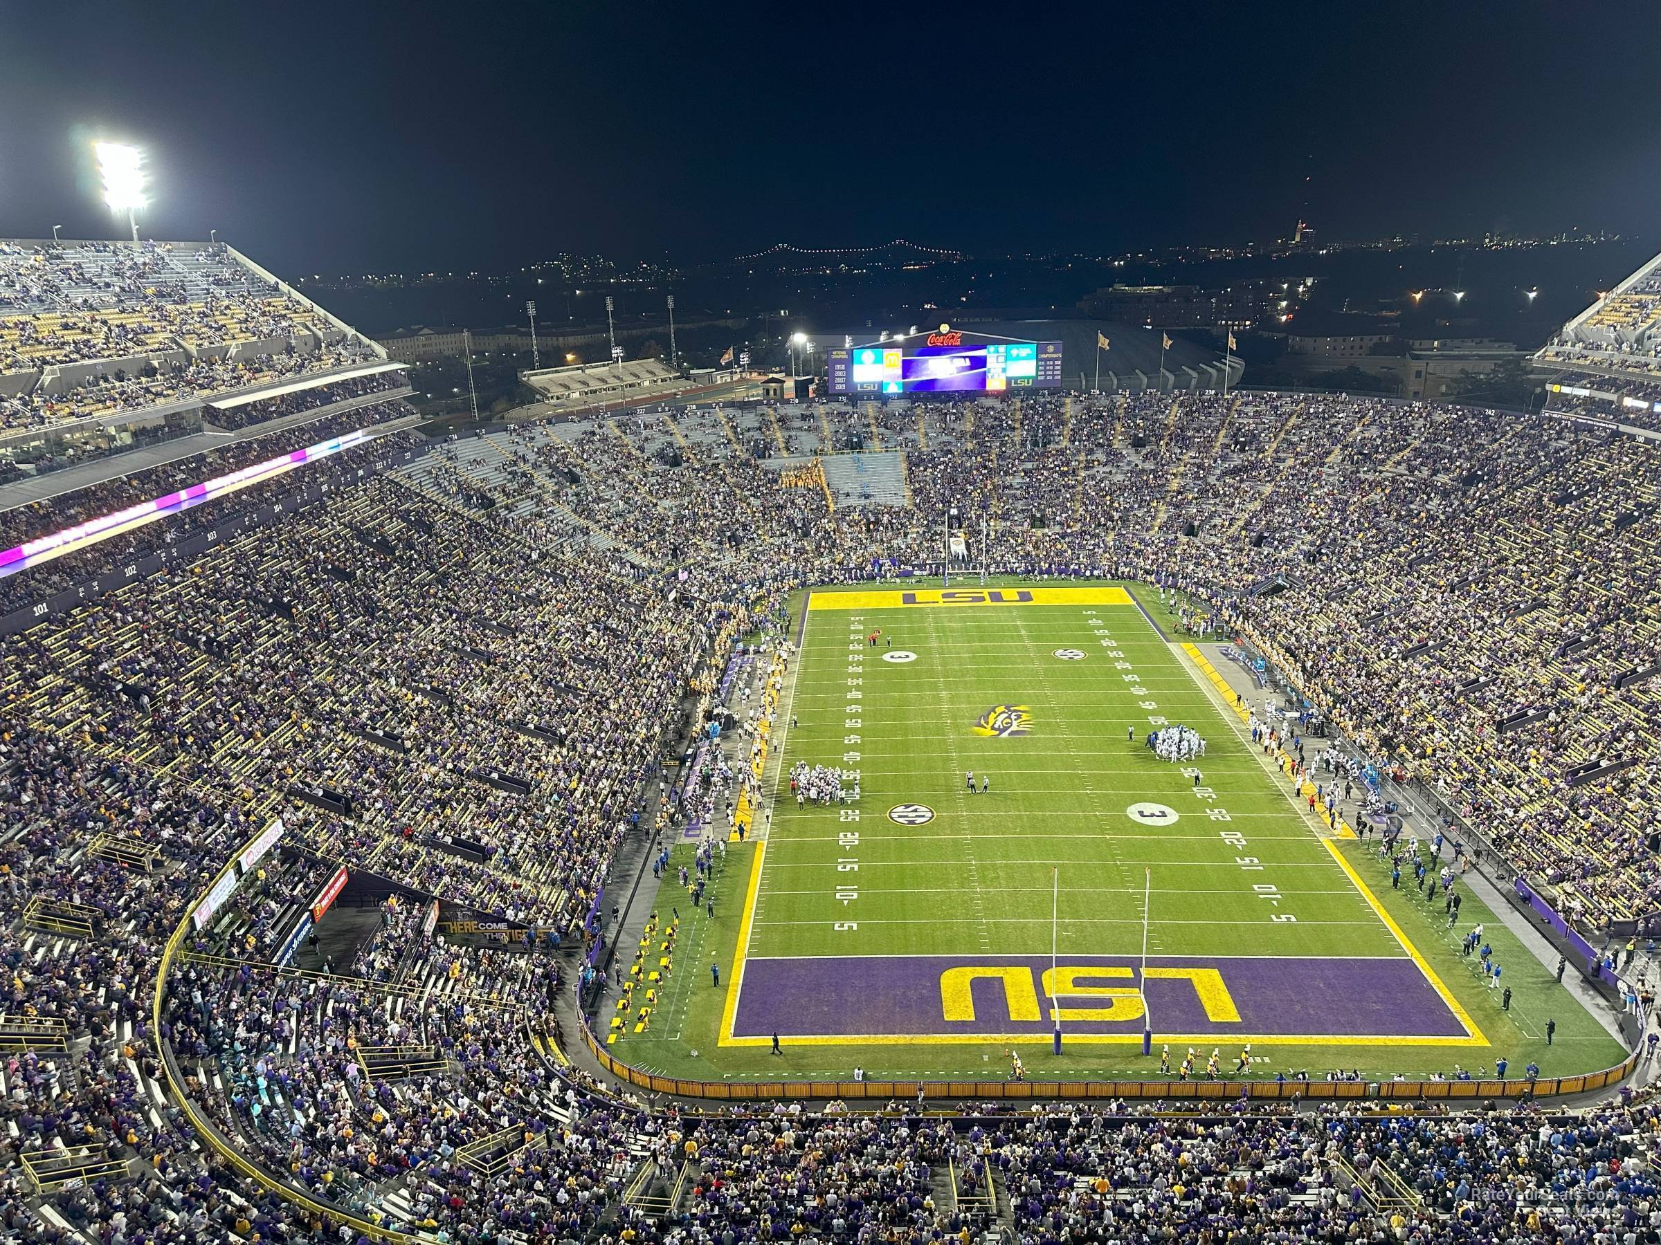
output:
M1065 956L1061 968L1118 968L1121 976L1091 976L1075 971L1076 986L1139 984L1134 956ZM1008 981L997 974L965 983L957 973L957 1011L963 1011L963 988L973 1001L973 1018L947 1019L942 978L952 969L1017 968ZM1017 1034L1046 1038L1051 1029L1050 1001L1043 998L1048 956L802 956L747 959L744 963L734 1038L835 1038L835 1036L943 1036ZM1418 971L1412 959L1282 959L1203 956L1151 956L1149 969L1216 969L1226 999L1213 978L1213 1014L1208 1014L1191 978L1149 973L1144 996L1158 1033L1206 1034L1216 1038L1465 1038L1465 1026ZM1030 989L1028 989L1030 973ZM1036 1019L1010 1019L1012 1004ZM1091 994L1061 994L1063 1011L1103 1008L1108 999ZM1239 1019L1219 1019L1232 1004ZM1063 1019L1068 1033L1139 1034L1143 1018L1134 1006L1123 1021Z

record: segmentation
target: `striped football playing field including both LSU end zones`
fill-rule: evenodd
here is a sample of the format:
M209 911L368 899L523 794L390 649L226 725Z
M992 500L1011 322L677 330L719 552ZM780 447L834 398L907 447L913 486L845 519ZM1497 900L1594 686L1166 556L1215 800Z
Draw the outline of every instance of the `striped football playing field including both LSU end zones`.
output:
M782 792L726 1041L1485 1041L1123 588L814 594L794 682L860 798Z

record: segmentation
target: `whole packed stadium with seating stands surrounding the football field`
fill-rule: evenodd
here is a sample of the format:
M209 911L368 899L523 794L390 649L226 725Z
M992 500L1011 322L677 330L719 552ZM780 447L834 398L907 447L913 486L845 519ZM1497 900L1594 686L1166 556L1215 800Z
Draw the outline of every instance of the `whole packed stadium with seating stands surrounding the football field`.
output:
M1619 1222L1654 267L1535 415L429 435L231 247L0 244L7 1228Z

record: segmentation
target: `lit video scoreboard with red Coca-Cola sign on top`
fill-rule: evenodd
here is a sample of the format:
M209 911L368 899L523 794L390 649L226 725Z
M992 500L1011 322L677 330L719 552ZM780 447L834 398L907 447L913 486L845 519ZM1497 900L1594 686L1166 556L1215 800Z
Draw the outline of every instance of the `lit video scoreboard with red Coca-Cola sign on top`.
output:
M1060 388L1060 342L965 340L928 334L924 345L879 342L830 350L830 393L1005 393Z

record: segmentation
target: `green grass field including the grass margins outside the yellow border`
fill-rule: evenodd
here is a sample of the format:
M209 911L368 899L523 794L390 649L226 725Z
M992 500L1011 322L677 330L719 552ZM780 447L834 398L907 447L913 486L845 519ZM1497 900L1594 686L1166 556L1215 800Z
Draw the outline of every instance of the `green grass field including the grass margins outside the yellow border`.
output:
M766 779L771 825L761 843L729 843L716 920L686 921L649 1033L615 1056L703 1079L855 1064L1002 1076L1010 1051L1028 1076L1158 1076L1164 1042L1173 1072L1189 1046L1199 1069L1219 1047L1231 1071L1251 1042L1252 1076L1492 1069L1500 1054L1513 1072L1535 1059L1560 1076L1621 1057L1477 896L1450 933L1440 898L1405 880L1392 891L1370 845L1292 803L1143 613L1169 627L1158 593L1101 586L1051 604L1053 584L1028 586L1033 601L1017 588L962 604L919 589L897 608L814 594ZM1206 739L1204 757L1171 764L1144 745L1174 724ZM859 802L797 808L797 760L857 770ZM1513 988L1508 1013L1457 951L1477 921Z

